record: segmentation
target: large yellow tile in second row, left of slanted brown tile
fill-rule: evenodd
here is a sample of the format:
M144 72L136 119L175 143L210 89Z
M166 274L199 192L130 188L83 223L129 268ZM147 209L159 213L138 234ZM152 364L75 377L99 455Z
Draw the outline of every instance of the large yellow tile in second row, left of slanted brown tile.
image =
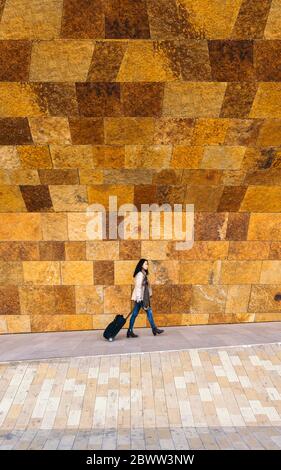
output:
M30 80L83 82L87 79L94 50L91 40L41 41L33 44Z

